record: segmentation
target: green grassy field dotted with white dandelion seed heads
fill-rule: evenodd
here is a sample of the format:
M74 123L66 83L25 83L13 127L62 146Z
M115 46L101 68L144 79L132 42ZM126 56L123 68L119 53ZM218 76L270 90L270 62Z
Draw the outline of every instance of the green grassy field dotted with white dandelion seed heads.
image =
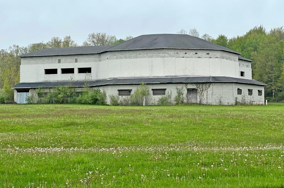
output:
M283 187L284 104L0 105L0 187Z

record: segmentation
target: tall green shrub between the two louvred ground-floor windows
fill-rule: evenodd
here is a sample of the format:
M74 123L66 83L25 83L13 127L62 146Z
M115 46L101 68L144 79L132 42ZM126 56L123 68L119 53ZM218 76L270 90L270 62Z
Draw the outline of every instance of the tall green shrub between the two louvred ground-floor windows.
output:
M133 105L142 105L145 96L145 105L149 103L150 90L149 87L142 83L133 94L130 95L130 103Z

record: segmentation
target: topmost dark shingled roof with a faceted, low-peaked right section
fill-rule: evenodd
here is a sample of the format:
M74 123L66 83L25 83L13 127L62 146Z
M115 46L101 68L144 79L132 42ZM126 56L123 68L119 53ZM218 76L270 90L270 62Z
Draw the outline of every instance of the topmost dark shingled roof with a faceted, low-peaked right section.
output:
M80 46L69 48L46 48L36 52L20 55L19 57L97 54L108 51L137 50L137 49L206 49L222 50L240 54L231 49L219 46L201 38L181 34L152 34L141 35L117 45Z

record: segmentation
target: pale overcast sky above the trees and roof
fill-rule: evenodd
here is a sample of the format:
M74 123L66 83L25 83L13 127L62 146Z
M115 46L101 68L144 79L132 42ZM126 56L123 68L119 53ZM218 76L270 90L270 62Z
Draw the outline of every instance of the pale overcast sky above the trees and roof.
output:
M196 28L216 38L242 35L255 25L284 25L283 0L0 0L0 7L0 49L66 35L81 45L93 32L124 38Z

